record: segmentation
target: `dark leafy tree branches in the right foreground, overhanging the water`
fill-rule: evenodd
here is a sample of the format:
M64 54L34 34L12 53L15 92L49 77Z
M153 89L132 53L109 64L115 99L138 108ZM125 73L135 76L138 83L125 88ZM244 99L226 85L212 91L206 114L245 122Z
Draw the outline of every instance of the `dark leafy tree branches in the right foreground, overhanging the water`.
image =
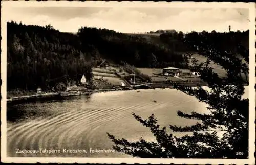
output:
M248 84L248 51L240 44L232 50L223 49L216 40L220 33L188 34L183 42L207 57L203 63L190 60L189 69L201 72L201 79L208 84L203 87L173 86L187 95L196 97L200 102L208 104L210 114L191 112L190 114L178 111L177 115L186 119L199 120L193 126L180 127L170 125L161 128L152 114L148 119L142 119L133 114L142 125L150 128L156 137L155 142L146 142L140 138L137 142L128 142L125 139L116 139L108 133L114 142L114 149L130 149L127 153L135 157L150 158L247 158L248 157L248 99L243 99L244 85ZM233 34L227 34L233 35ZM240 57L238 57L240 55ZM212 63L223 66L225 77L220 77L211 67ZM243 76L244 75L244 76ZM170 133L167 133L170 132ZM177 132L193 132L193 135L176 137ZM220 136L217 132L222 132ZM244 155L236 155L243 152Z

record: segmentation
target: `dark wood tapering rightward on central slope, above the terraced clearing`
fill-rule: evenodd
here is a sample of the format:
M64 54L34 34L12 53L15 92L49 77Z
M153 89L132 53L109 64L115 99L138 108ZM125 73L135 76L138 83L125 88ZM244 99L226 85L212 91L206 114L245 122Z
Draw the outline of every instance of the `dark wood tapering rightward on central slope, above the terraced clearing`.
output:
M141 35L82 27L78 31L78 36L84 49L90 50L93 45L102 56L116 63L125 61L137 67L187 67L181 54L166 45L148 42Z

